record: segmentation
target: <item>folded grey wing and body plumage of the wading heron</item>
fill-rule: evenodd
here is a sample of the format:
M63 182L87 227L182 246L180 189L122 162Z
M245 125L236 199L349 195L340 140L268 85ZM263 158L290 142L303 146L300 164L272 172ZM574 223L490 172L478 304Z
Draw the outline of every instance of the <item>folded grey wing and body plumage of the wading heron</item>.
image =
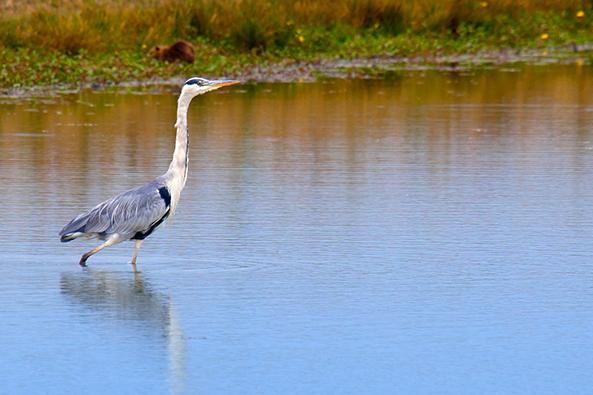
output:
M74 218L62 229L64 238L73 233L133 237L148 236L169 214L171 195L162 184L151 182L121 193ZM143 237L142 237L143 238Z

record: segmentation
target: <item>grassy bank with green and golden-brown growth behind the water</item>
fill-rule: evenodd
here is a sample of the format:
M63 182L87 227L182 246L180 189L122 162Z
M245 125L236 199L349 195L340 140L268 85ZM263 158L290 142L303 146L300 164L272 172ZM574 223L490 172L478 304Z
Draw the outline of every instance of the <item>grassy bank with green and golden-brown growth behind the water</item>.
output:
M0 87L240 75L286 59L476 53L593 42L593 3L562 0L116 0L0 6ZM191 65L148 57L186 39Z

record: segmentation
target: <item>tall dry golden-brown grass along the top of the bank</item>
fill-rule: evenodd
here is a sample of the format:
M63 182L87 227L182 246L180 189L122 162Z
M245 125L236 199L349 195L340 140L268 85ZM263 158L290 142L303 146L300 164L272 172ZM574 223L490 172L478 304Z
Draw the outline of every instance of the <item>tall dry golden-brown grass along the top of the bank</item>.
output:
M585 6L579 0L4 0L0 45L77 53L201 36L249 50L282 47L303 26L454 31L500 15Z

